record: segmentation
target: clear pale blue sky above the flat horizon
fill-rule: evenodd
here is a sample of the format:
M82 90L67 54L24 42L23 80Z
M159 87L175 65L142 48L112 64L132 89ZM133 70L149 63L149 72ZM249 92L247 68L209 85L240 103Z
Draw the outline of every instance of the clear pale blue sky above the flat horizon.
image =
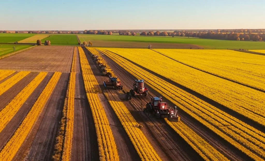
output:
M265 0L2 1L0 30L265 28Z

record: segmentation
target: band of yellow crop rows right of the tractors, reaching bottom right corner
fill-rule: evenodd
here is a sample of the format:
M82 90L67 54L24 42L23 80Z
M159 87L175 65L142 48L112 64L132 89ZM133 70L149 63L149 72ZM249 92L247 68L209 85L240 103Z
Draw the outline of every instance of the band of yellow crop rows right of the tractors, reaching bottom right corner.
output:
M135 66L126 59L107 50L101 51L136 78L144 79L151 88L161 93L169 101L187 112L187 114L204 124L246 155L254 160L263 160L265 158L265 134L263 132L260 132L237 118L219 110L169 82L160 79L144 69ZM175 127L177 128L178 126ZM182 129L180 128L179 130ZM190 138L193 138L193 141L198 141L192 136L190 136ZM201 149L204 149L204 147L201 147Z

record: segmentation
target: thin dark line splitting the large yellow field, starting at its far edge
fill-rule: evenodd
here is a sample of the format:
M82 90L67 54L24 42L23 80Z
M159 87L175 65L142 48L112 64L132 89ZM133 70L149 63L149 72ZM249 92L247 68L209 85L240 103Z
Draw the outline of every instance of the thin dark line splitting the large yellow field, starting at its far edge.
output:
M221 79L228 80L228 81L231 81L231 82L233 82L233 83L237 83L237 84L239 84L239 85L243 85L243 86L246 86L246 87L248 87L248 88L255 89L255 90L258 90L258 91L260 91L260 92L265 93L265 90L262 90L262 89L259 89L259 88L257 88L257 87L253 87L253 86L250 86L250 85L246 85L246 84L244 84L244 83L240 83L240 82L238 82L238 81L235 81L235 80L232 80L232 79L229 79L229 78L226 78L226 77L222 77L222 76L219 76L219 75L214 74L214 73L207 72L207 71L202 70L202 69L200 69L200 68L196 68L196 67L193 67L193 66L191 66L191 65L189 65L189 64L186 64L186 63L180 62L179 60L176 60L176 59L174 59L174 58L171 58L170 56L167 56L167 55L165 55L165 54L162 54L162 53L160 53L160 52L158 52L158 51L156 51L156 50L153 50L153 49L151 49L151 50L154 51L154 52L156 52L156 53L158 53L158 54L161 54L161 55L163 55L163 56L166 56L167 58L169 58L169 59L171 59L171 60L174 60L174 61L176 61L176 62L178 62L178 63L180 63L180 64L183 64L183 65L185 65L185 66L191 67L191 68L193 68L193 69L197 69L197 70L199 70L199 71L201 71L201 72L204 72L204 73L207 73L207 74L210 74L210 75L213 75L213 76L219 77L219 78L221 78ZM235 50L235 51L236 51L236 50ZM264 54L264 55L265 55L265 54Z

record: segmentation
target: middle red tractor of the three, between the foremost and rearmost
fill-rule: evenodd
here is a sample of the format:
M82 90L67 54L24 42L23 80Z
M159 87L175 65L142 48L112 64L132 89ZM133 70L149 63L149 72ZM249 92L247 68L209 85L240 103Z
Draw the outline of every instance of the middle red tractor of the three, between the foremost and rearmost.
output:
M144 87L144 80L135 80L133 84L133 89L130 90L130 92L127 92L127 99L130 100L132 96L147 96L148 95L148 89Z

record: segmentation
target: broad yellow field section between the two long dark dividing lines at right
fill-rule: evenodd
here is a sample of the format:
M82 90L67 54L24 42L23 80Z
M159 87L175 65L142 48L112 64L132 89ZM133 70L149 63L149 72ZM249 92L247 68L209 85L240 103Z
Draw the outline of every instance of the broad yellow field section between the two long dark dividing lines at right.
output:
M188 67L152 50L119 48L106 50L123 56L265 126L264 92Z

